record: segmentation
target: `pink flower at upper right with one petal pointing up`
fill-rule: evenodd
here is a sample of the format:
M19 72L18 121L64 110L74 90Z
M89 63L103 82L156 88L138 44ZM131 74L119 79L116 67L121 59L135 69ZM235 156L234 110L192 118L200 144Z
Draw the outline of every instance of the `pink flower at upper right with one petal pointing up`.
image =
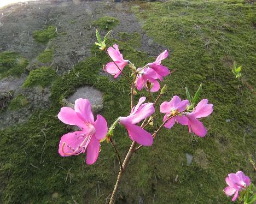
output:
M148 67L154 69L154 71L156 72L156 75L158 76L157 79L159 79L160 81L163 80L162 79L163 76L167 76L170 74L170 70L167 67L161 65L161 61L167 57L168 57L168 51L165 50L156 58L155 62L148 63Z

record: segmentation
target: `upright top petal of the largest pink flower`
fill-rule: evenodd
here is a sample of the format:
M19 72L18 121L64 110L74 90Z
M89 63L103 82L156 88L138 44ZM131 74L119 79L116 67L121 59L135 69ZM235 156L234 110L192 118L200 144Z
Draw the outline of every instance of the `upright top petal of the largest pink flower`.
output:
M94 123L94 115L91 112L91 104L88 99L75 100L74 110L83 121Z

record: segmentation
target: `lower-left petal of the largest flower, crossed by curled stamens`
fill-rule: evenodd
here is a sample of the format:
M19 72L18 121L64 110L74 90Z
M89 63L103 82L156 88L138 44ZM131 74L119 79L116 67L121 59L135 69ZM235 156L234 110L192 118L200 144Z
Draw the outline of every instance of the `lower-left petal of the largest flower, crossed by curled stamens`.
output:
M62 157L69 157L71 155L75 155L78 152L73 152L70 148L67 147L69 145L71 148L76 149L84 140L84 137L77 138L78 135L82 135L84 131L75 131L74 133L67 133L61 137L59 144L59 154ZM65 146L63 146L63 142L65 142ZM62 149L63 146L63 149ZM62 151L63 150L63 151ZM66 153L66 154L65 154Z

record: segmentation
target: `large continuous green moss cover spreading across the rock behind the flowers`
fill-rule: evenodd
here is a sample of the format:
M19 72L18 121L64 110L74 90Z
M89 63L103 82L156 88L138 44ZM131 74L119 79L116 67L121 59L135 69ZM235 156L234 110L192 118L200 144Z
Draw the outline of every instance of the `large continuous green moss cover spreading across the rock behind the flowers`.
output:
M209 129L205 138L175 125L162 130L152 147L136 153L117 203L137 203L139 196L144 203L230 203L223 194L227 173L242 170L255 183L249 163L249 157L255 160L255 97L231 73L236 60L244 66L246 80L254 83L254 9L244 1L137 4L133 10L145 31L170 51L164 64L176 69L164 81L168 94L162 100L176 94L185 98L184 87L193 92L203 82L201 97L214 104L214 112L203 119ZM154 60L125 40L110 40L108 45L113 43L118 43L124 58L137 66ZM84 155L61 158L57 153L61 135L71 129L56 115L62 99L79 86L93 85L103 92L100 114L109 125L130 112L129 85L124 77L109 81L99 75L102 64L109 60L96 46L91 52L91 57L73 71L51 80L53 104L49 109L38 110L27 123L0 132L3 203L105 203L112 192L119 167L110 144L102 143L100 157L92 166L85 165ZM143 94L136 95L136 100ZM160 124L161 119L155 121L156 126ZM148 130L153 131L151 127ZM131 143L125 129L117 127L113 139L124 155ZM190 166L185 153L194 155Z

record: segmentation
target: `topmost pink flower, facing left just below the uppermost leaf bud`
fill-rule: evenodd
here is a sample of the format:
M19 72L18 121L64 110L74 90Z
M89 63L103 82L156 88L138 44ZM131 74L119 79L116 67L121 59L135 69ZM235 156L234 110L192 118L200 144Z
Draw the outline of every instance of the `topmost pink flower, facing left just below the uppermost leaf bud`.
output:
M123 55L119 52L118 45L116 44L114 44L113 47L108 47L108 55L113 59L113 61L121 70L123 70L129 62L123 58ZM117 78L121 71L118 69L114 62L107 63L105 70L109 74L114 75L114 78Z

